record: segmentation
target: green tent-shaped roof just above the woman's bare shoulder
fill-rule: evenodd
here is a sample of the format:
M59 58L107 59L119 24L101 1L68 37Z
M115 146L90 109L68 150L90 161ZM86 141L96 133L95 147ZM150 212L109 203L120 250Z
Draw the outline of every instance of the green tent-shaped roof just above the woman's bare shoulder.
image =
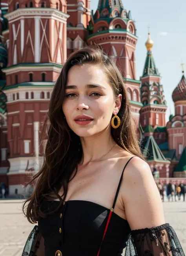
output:
M168 163L164 155L162 154L159 146L157 145L153 135L147 136L141 141L141 149L144 157L147 161Z

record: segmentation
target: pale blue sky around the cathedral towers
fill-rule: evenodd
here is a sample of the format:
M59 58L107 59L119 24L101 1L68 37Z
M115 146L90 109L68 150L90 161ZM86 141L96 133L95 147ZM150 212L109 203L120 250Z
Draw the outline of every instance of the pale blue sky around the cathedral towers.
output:
M181 63L186 70L186 1L185 0L122 0L124 9L131 11L135 20L138 42L136 46L136 71L140 79L146 59L145 42L148 38L148 26L154 42L152 54L161 75L168 109L174 115L172 92L182 77ZM91 0L91 9L97 9L98 0Z

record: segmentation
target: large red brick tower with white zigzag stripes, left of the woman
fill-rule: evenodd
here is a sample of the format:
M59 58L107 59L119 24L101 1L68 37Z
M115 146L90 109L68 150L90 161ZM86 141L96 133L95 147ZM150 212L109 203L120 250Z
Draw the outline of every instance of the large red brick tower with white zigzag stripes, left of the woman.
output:
M40 124L47 113L54 81L66 60L65 0L9 2L6 74L9 193L21 194L25 170L42 164Z

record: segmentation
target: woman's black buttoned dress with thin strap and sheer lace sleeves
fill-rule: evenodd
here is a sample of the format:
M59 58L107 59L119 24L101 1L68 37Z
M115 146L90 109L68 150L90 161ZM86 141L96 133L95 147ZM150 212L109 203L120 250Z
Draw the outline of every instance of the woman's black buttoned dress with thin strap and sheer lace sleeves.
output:
M169 224L131 231L128 221L115 214L123 172L111 209L90 201L64 202L38 221L22 256L120 256L126 246L126 256L184 256ZM44 201L42 211L51 212L59 203Z

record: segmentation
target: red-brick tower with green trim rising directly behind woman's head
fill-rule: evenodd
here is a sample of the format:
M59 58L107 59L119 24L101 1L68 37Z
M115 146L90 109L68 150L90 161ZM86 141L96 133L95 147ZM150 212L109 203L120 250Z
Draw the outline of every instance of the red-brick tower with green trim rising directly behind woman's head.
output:
M142 104L139 97L140 81L136 80L135 69L137 35L130 11L127 13L121 0L99 0L88 29L87 43L102 46L120 69L128 91L131 111L138 124Z

